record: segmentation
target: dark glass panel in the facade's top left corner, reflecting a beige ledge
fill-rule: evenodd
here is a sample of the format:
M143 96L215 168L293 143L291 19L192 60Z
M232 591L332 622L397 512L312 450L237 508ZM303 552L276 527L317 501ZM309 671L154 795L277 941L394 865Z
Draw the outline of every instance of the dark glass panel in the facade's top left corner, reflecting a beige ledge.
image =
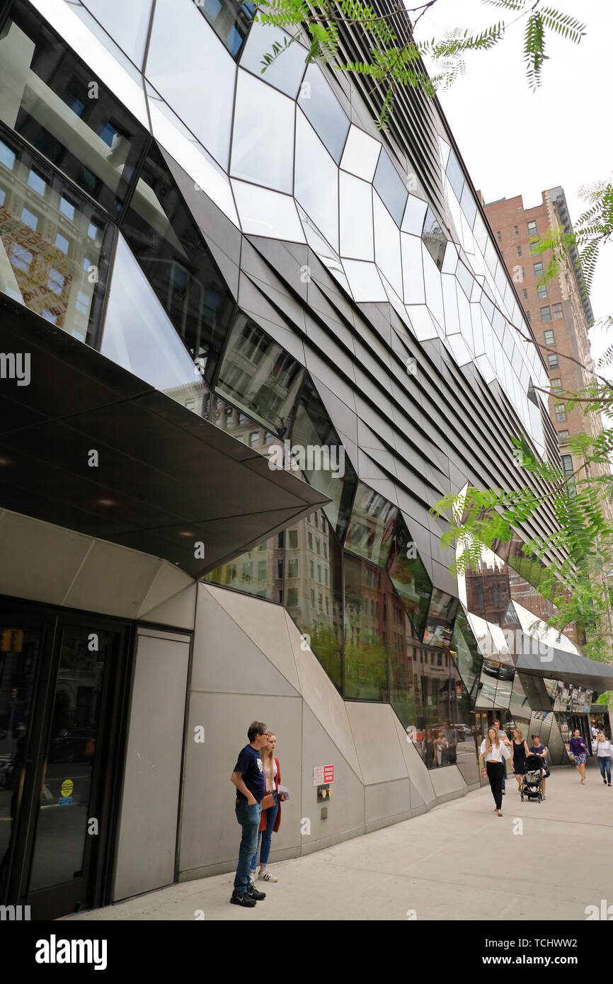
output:
M147 135L29 5L12 18L0 34L0 119L118 215Z

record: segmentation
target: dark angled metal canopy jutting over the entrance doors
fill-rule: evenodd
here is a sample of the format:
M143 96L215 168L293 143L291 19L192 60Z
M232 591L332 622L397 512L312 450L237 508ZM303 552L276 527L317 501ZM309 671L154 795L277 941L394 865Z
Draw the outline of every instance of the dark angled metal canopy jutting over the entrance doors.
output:
M0 295L0 507L197 578L329 501Z

